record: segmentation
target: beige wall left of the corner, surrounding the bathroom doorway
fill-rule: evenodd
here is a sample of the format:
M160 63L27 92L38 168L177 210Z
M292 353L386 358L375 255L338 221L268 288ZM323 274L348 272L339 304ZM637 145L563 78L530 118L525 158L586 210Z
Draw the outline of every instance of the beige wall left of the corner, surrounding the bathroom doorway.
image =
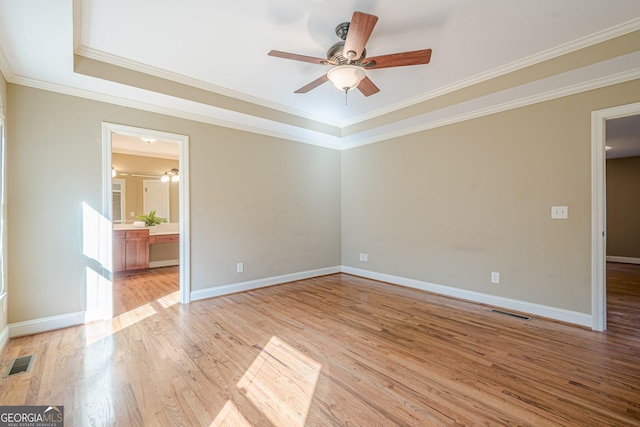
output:
M339 152L13 84L8 97L10 323L84 310L103 121L189 136L193 290L340 265Z

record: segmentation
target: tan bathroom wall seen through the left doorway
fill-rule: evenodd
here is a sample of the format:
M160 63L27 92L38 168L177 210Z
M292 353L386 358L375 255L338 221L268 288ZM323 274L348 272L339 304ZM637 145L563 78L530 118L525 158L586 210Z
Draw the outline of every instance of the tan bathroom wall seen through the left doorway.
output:
M149 212L143 212L143 181L153 178L145 178L132 176L131 172L138 172L141 175L152 174L162 175L166 171L176 168L179 169L178 160L160 159L157 157L133 156L130 154L113 153L111 155L111 164L118 172L117 179L125 181L125 221L132 223L138 215L146 215ZM127 175L122 175L128 172ZM159 178L158 178L159 179ZM170 182L169 184L169 220L171 222L180 222L180 198L178 191L178 183ZM131 217L131 212L134 216Z

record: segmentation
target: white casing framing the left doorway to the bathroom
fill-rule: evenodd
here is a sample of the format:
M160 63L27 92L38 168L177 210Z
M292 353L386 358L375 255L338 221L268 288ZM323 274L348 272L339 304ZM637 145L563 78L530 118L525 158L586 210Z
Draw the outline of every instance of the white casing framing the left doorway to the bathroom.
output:
M189 214L189 137L187 135L145 129L115 123L102 123L102 215L109 221L113 219L111 201L111 150L112 133L136 137L151 137L163 141L176 142L179 145L179 215L180 215L180 302L187 304L191 300L191 258L190 258L190 214ZM110 238L113 238L111 235ZM113 254L110 254L113 256Z

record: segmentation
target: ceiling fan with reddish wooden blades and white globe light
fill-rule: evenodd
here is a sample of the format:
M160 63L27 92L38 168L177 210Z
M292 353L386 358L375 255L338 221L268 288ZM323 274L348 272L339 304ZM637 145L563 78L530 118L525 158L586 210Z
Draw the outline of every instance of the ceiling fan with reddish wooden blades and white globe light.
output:
M365 46L377 22L378 17L375 15L354 12L351 22L343 22L336 27L336 35L342 41L329 48L327 59L279 50L272 50L268 55L333 67L328 73L296 90L295 93L307 93L330 80L339 90L347 92L358 88L364 96L371 96L380 92L380 89L367 76L366 70L428 64L431 60L431 49L368 58Z

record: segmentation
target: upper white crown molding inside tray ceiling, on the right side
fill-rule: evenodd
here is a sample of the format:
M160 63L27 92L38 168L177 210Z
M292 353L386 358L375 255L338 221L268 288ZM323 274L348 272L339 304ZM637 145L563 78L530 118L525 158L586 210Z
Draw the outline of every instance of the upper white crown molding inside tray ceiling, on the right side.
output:
M368 113L368 114L363 114L361 116L354 117L352 119L344 120L340 123L339 126L342 128L345 128L347 126L352 126L361 122L365 122L367 120L371 120L376 117L384 116L386 114L393 113L397 110L401 110L403 108L407 108L412 105L419 104L421 102L425 102L430 99L434 99L439 96L449 94L451 92L465 89L467 87L470 87L479 83L483 83L485 81L488 81L497 77L501 77L511 72L518 71L523 68L527 68L527 67L539 64L541 62L548 61L550 59L558 58L562 55L566 55L568 53L575 52L580 49L584 49L586 47L593 46L598 43L602 43L607 40L611 40L616 37L620 37L625 34L629 34L638 30L640 30L640 18L634 18L632 20L613 26L606 30L598 31L586 37L581 37L571 42L556 46L552 49L548 49L543 52L530 55L526 58L514 61L510 64L506 64L504 66L494 68L492 70L489 70L483 73L476 74L474 76L471 76L469 78L457 81L455 83L452 83L446 86L442 86L431 92L427 92L422 95L418 95L416 97L407 99L405 101L389 105L388 107L381 108L376 111L372 111L371 113Z

